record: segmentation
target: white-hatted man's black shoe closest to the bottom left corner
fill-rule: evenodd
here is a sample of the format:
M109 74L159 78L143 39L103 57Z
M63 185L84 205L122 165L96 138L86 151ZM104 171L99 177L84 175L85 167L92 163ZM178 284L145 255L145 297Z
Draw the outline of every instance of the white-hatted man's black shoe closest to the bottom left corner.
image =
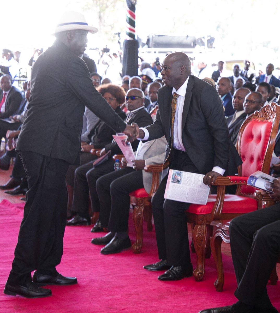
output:
M21 295L25 298L44 298L52 295L50 289L39 288L33 283L28 283L26 286L6 283L4 294L6 295Z

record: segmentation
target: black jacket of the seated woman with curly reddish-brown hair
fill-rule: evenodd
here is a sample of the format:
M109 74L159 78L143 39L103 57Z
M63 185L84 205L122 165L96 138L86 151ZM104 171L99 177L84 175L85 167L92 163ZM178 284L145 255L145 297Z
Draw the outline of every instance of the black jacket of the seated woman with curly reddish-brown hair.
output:
M122 109L118 106L115 112L125 120L126 115L122 111ZM115 131L111 129L106 123L102 120L99 120L94 129L92 129L88 135L89 140L91 141L91 145L94 146L95 149L102 149L107 144L111 143L112 135L115 135Z

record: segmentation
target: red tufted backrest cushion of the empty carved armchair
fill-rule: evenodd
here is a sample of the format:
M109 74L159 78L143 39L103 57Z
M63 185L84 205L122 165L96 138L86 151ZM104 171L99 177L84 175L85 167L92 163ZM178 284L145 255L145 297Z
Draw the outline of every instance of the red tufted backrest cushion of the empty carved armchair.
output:
M249 177L256 171L262 171L264 157L267 151L272 131L271 121L252 119L245 127L240 142L240 157L242 176ZM241 185L241 194L253 194L256 188Z

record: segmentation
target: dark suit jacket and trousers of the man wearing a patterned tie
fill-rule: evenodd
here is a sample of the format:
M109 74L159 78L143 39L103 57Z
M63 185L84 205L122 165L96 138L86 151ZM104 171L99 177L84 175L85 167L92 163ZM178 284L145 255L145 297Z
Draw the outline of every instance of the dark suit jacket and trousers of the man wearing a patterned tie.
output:
M158 111L153 125L146 127L149 139L165 136L169 148L172 88L158 90ZM182 114L182 142L186 150L171 151L170 168L206 174L214 166L235 174L241 159L231 143L223 105L214 87L189 77ZM164 200L167 171L153 197L153 217L156 230L159 259L167 259L169 265L190 264L187 220L184 211L188 203Z

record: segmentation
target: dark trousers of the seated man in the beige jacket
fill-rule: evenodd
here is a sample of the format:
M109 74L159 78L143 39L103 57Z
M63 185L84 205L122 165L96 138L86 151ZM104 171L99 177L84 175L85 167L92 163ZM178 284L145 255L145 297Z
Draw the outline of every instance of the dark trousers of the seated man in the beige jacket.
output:
M129 217L129 193L143 188L142 171L122 168L97 179L101 226L111 232L126 232Z

